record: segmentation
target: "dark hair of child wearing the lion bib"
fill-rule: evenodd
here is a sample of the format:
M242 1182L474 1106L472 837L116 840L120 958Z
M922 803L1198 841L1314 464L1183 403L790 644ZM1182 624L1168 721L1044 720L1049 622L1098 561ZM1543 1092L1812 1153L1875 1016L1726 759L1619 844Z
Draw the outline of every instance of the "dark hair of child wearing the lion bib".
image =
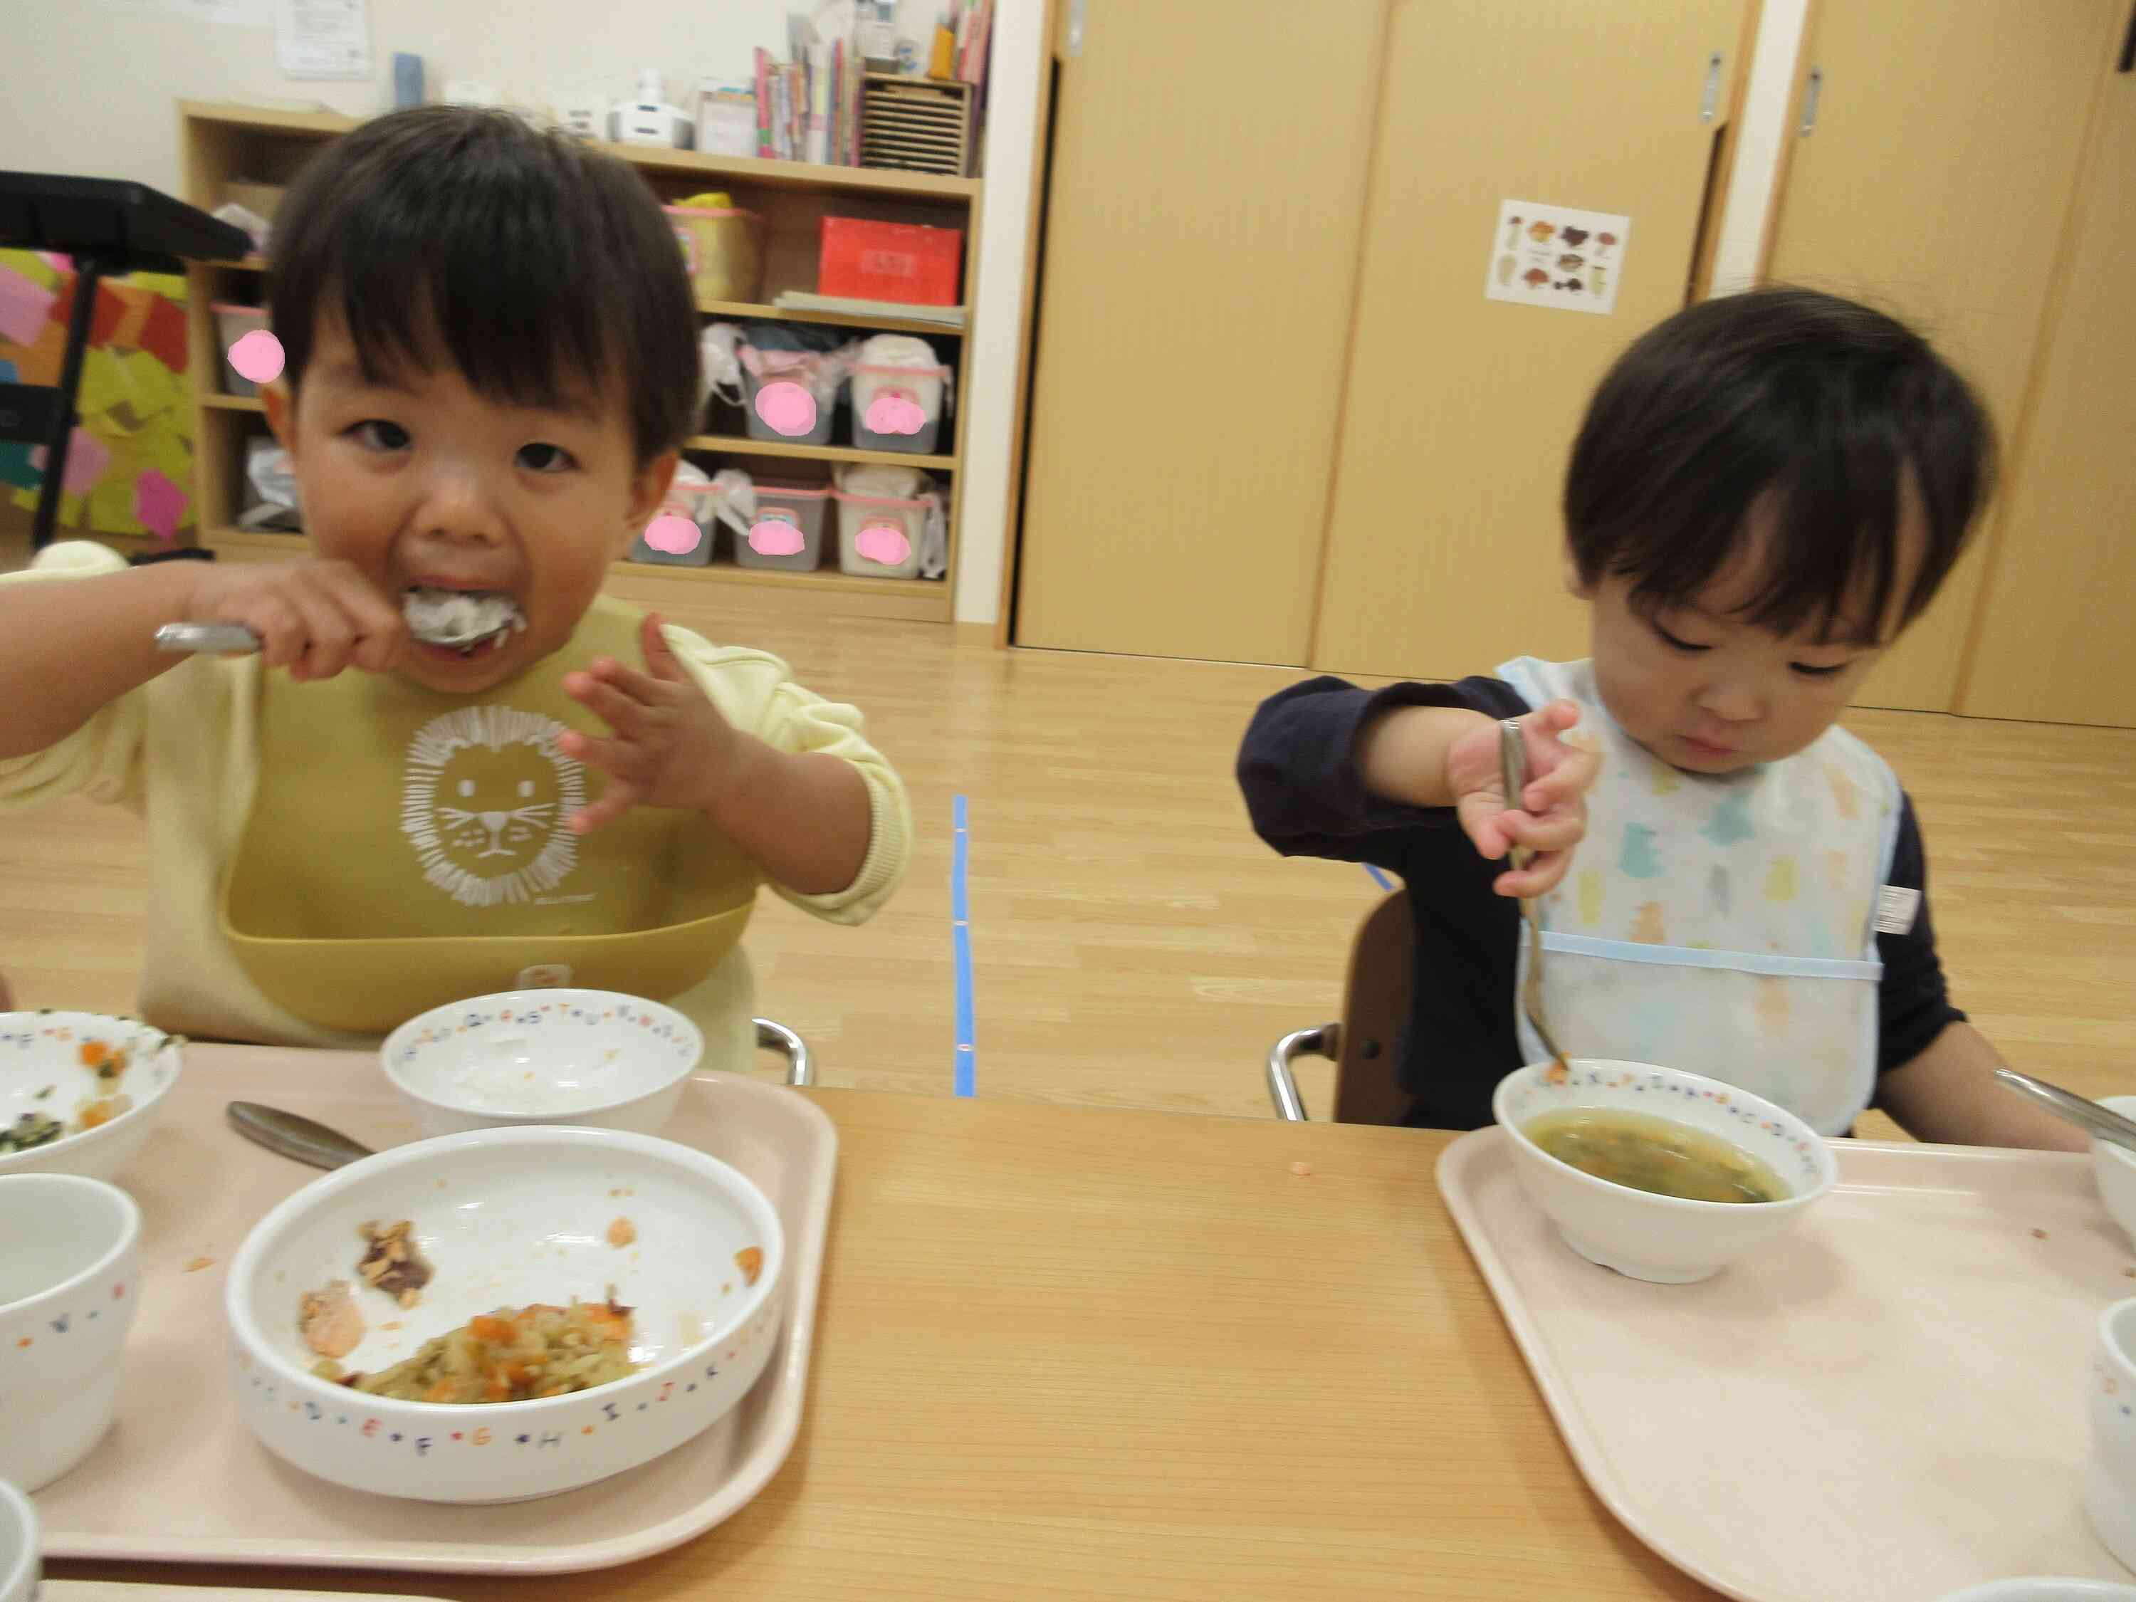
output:
M692 431L696 301L660 201L628 164L506 111L412 107L297 177L273 229L273 331L303 382L318 316L365 374L451 359L476 393L630 408L643 466Z

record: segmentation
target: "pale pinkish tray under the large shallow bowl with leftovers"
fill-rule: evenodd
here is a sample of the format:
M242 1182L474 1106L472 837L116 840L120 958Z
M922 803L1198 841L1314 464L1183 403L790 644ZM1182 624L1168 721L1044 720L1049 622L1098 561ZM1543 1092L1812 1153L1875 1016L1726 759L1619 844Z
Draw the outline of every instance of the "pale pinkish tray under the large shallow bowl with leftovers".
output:
M229 1395L224 1271L273 1203L318 1177L239 1138L231 1100L320 1119L370 1147L414 1136L367 1055L188 1047L164 1121L120 1175L141 1203L141 1312L120 1420L38 1491L43 1553L177 1564L297 1564L436 1574L560 1574L679 1546L731 1517L801 1427L837 1132L797 1091L711 1074L664 1130L754 1179L786 1226L792 1288L780 1350L733 1414L688 1446L581 1491L442 1506L344 1491L267 1455ZM60 1593L64 1596L64 1591Z

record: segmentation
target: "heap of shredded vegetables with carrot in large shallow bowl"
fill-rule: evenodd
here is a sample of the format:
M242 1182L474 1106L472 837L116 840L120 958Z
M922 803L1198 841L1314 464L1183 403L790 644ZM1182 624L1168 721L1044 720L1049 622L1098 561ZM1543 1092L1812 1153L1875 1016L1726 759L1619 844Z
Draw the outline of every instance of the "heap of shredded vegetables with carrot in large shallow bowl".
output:
M568 1307L532 1303L498 1307L455 1331L423 1341L406 1363L378 1373L342 1373L331 1363L316 1371L395 1401L534 1401L592 1391L637 1373L630 1361L630 1309L609 1301L572 1301Z

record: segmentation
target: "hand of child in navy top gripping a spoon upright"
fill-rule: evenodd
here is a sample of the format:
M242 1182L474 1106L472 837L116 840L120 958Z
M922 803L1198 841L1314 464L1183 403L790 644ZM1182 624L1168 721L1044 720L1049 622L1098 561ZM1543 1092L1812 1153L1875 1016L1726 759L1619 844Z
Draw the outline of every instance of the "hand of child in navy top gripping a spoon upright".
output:
M1476 850L1493 863L1512 846L1534 852L1527 867L1497 876L1491 889L1499 895L1542 895L1572 867L1572 848L1587 833L1587 786L1602 771L1600 756L1559 739L1579 720L1581 709L1570 701L1553 701L1519 720L1527 741L1527 792L1512 799L1506 797L1497 724L1480 724L1446 748L1446 792Z

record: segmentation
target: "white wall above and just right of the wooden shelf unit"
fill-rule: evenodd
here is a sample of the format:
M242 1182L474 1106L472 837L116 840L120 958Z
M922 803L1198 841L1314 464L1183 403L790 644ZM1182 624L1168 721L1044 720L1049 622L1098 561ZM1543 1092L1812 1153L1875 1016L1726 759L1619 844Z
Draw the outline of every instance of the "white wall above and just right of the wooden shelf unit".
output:
M393 51L423 58L429 98L440 96L446 79L493 83L519 105L553 105L572 90L622 98L645 66L666 73L673 96L701 75L748 75L758 45L784 58L786 13L801 9L814 6L810 0L370 0L372 79L312 83L280 75L269 0L6 0L0 167L132 177L175 194L184 188L173 109L179 98L269 96L367 115L393 103ZM904 0L901 23L918 32L914 23L938 11L936 0ZM974 263L985 314L959 374L959 399L974 408L957 583L961 622L991 622L998 607L1042 11L1040 0L998 0L991 111L998 130ZM218 13L250 21L201 19Z

